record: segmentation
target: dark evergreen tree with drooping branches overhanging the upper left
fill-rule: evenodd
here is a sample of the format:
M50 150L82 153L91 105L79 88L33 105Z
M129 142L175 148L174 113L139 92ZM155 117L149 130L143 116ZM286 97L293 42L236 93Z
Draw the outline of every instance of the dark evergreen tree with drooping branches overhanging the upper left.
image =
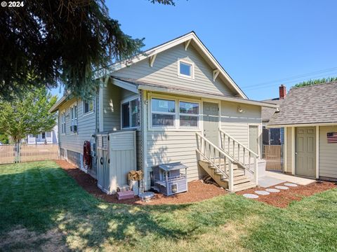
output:
M143 39L124 34L110 18L104 0L27 0L23 7L1 7L0 31L0 99L59 83L85 97L98 86L95 69L143 46Z

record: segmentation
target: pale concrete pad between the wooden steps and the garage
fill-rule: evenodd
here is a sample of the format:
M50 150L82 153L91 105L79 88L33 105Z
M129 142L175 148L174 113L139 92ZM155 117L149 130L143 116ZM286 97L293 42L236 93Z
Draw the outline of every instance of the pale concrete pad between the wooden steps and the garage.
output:
M282 174L279 172L268 172L265 171L264 176L258 178L258 186L263 188L268 188L270 186L276 186L280 183L291 182L296 183L301 186L306 186L310 183L315 182L315 179L305 179L298 176L292 176L287 174Z

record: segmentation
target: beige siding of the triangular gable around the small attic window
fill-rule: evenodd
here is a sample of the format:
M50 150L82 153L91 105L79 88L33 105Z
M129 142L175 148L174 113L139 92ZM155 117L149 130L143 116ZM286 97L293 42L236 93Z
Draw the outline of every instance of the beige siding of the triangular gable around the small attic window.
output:
M178 78L178 59L194 63L194 80ZM192 45L185 50L184 45L180 44L160 52L152 67L150 67L149 59L143 59L112 74L150 83L171 85L172 87L191 88L192 90L234 96L235 93L230 90L229 84L227 85L220 77L213 82L213 70Z

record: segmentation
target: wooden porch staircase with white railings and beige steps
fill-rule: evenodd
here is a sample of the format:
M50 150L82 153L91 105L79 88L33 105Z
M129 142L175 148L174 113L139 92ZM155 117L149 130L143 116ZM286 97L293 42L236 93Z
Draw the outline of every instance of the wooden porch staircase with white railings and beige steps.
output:
M255 153L235 141L234 144L237 144L237 148L235 148L234 144L232 148L232 150L237 153L237 157L235 157L234 153L224 150L223 145L221 145L220 148L215 146L198 132L196 132L196 136L199 166L204 169L219 186L231 192L238 192L257 186L257 155ZM227 136L226 134L226 137ZM240 148L244 152L243 160L240 159L242 156L239 153ZM246 154L248 154L248 165L245 165ZM251 165L251 158L253 158L253 165Z

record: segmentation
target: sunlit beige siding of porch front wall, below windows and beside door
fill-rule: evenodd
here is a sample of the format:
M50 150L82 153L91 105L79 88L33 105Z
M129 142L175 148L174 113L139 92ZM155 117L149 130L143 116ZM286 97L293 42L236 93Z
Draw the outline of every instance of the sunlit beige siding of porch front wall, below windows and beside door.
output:
M184 97L176 98L183 99ZM190 98L200 99L198 97ZM148 106L150 106L150 102ZM244 116L238 115L238 106L244 109ZM248 144L248 127L250 123L260 125L261 127L260 115L260 106L221 102L221 127L231 134L232 137L242 141L242 144ZM147 116L150 116L148 111ZM199 123L203 123L202 116L200 117ZM197 141L195 132L201 131L181 129L154 131L147 127L147 172L152 172L152 167L155 165L182 162L183 165L187 166L188 181L201 179L201 177L205 175L205 172L197 165ZM147 185L150 185L150 176L148 176Z

